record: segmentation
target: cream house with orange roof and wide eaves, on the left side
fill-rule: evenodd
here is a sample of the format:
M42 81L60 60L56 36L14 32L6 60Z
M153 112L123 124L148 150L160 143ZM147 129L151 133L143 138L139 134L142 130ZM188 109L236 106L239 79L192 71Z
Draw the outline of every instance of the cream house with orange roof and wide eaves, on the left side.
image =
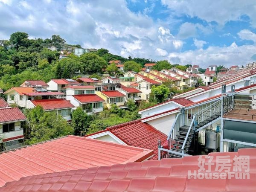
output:
M31 102L32 100L38 99L55 99L61 98L64 93L61 92L49 92L43 88L34 87L12 87L7 90L6 94L7 103L16 103L21 108L34 108L35 105Z

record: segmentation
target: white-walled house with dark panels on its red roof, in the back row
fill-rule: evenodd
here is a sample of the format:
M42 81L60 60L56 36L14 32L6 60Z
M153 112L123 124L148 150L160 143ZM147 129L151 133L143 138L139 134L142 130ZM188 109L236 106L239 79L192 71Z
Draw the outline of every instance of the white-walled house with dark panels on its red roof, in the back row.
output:
M64 87L67 87L68 85L80 85L79 82L73 79L52 79L47 84L49 85L47 90L58 91L61 93L66 93L66 89Z

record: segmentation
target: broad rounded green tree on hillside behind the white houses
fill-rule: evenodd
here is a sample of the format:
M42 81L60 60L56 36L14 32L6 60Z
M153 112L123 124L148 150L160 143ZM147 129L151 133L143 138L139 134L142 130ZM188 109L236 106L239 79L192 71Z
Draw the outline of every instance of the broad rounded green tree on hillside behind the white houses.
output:
M107 62L94 53L85 53L80 57L81 69L83 73L102 73L105 69Z

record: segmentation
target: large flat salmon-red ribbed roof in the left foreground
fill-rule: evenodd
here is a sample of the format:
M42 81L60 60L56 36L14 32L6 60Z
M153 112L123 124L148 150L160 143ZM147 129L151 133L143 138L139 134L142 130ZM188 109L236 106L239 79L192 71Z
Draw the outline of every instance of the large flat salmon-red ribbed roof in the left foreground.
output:
M0 186L21 177L74 173L79 169L94 170L99 166L140 162L151 155L153 151L148 149L69 135L1 153L0 161L7 163L7 169L1 169ZM90 176L93 175L87 174L83 178L90 180Z

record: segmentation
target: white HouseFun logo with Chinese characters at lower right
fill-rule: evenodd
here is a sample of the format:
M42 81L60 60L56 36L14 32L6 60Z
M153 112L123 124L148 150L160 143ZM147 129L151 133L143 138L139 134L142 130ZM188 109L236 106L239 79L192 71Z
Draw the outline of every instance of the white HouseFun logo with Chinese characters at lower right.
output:
M213 156L198 158L198 170L189 170L189 179L250 179L250 156L217 156L212 162ZM205 157L205 156L204 156Z

